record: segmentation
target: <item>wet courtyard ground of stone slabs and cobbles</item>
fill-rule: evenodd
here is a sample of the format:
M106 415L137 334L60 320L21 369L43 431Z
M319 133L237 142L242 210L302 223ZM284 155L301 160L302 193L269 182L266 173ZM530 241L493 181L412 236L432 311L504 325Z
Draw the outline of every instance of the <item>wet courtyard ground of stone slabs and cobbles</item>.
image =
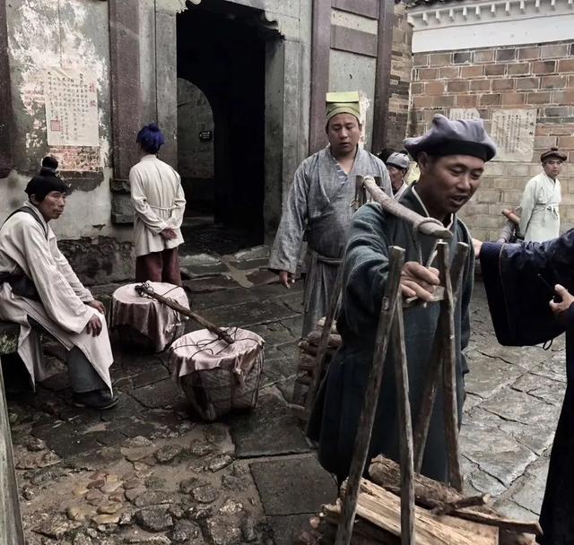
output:
M222 276L186 283L203 316L265 338L256 411L202 423L171 382L165 354L120 350L112 368L117 408L75 409L58 350L48 346L54 376L36 394L9 401L30 545L283 545L333 501L335 483L286 407L300 282L287 291L266 284L265 273L241 278L255 285ZM109 299L115 288L101 287L100 297ZM473 326L462 431L466 486L489 492L509 515L533 518L564 389L562 343L548 351L500 347L480 284Z

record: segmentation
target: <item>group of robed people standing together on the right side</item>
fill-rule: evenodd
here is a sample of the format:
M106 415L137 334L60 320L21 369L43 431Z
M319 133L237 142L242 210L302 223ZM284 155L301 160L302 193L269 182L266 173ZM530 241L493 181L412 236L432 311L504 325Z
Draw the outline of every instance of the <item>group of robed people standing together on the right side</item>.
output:
M546 545L571 545L574 471L569 462L574 456L571 434L574 298L568 289L574 289L571 272L574 230L559 236L558 179L567 158L556 148L541 155L542 172L527 182L520 205L502 211L509 222L499 240L483 244L472 238L458 215L478 190L485 163L497 152L482 120L449 120L437 115L427 133L404 141L404 150L385 150L375 157L359 146L362 127L358 108L358 103L327 102L329 144L304 160L297 170L270 260L270 268L278 272L289 288L298 270L302 243L307 242L302 265L303 335L315 327L317 318L325 316L329 298L334 295L337 268L344 269L342 304L336 321L343 344L322 379L307 428L309 438L317 444L319 461L339 482L349 473L388 278L388 247L404 248L406 263L400 289L405 298L418 298L422 303L404 312L413 415L419 412L425 370L438 327L439 303L431 303L439 286L435 241L421 234L415 240L409 223L385 212L376 203L368 203L354 214L349 212L355 195L355 175L370 174L382 181L381 188L389 197L423 217L442 222L452 233L448 241L451 249L458 242L471 247L455 308L459 423L465 400L465 374L469 372L464 350L472 334L469 303L475 259L480 259L492 322L500 342L535 345L566 330L568 386L552 448L541 515L544 535L539 540ZM418 176L407 184L413 162ZM454 251L449 255L454 255ZM554 286L555 291L541 289L545 285ZM384 366L369 454L370 457L385 454L397 461L398 417L392 351ZM438 401L431 414L422 474L447 482L444 429L443 403Z

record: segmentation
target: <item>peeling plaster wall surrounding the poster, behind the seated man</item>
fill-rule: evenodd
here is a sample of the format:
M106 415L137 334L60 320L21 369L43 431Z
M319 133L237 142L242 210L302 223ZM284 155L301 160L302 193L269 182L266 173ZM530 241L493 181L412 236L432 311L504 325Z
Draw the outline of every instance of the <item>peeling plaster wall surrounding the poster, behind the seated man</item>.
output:
M108 5L84 0L14 0L7 30L14 121L15 170L0 181L0 219L25 200L23 189L42 157L55 155L73 192L53 224L58 238L108 237L121 241L131 229L110 223L110 99ZM102 31L103 29L103 31ZM95 76L99 108L97 146L48 146L44 86L50 68L86 70ZM79 221L81 219L81 221ZM128 255L129 257L129 255ZM113 271L110 278L126 278Z

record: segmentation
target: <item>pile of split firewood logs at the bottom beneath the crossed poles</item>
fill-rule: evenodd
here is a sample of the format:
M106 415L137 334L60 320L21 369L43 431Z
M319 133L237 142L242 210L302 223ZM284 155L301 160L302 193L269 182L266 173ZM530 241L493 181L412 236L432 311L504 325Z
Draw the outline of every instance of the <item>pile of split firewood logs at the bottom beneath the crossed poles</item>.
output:
M352 543L400 545L400 469L383 456L370 465L370 480L361 480ZM341 494L344 497L343 485ZM521 522L498 515L486 505L488 496L464 497L455 489L415 474L416 545L529 545L541 530L537 522ZM310 529L297 545L335 543L342 501L323 506L309 521Z

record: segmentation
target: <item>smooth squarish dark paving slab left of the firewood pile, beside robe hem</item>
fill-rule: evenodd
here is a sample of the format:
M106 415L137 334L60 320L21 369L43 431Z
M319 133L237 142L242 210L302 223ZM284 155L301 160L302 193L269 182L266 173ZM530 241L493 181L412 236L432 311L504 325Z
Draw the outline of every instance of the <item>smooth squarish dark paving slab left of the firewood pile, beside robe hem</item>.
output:
M249 464L265 515L317 513L337 497L335 480L314 455Z

